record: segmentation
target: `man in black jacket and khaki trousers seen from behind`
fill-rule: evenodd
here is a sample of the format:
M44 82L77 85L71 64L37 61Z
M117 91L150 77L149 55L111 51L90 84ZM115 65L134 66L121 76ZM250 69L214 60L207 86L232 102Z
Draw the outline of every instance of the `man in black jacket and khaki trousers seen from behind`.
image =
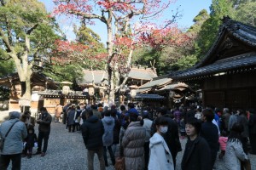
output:
M87 151L88 169L93 170L94 155L97 154L100 161L100 169L105 170L105 161L103 158L102 136L104 127L102 121L93 115L92 110L85 111L86 121L83 123L81 130L84 144Z

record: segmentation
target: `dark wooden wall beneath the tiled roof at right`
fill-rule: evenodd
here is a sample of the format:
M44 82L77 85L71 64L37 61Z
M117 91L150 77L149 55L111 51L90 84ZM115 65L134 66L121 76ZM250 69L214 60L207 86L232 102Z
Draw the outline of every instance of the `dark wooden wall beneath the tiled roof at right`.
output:
M203 105L234 109L255 107L255 77L255 72L247 72L204 79L202 82Z

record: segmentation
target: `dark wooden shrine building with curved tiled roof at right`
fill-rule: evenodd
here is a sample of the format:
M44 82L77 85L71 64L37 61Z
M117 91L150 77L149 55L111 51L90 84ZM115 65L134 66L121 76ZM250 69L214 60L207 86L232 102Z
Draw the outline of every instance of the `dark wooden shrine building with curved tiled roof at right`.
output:
M169 77L176 82L200 83L204 106L255 107L256 28L224 18L206 56L194 67Z

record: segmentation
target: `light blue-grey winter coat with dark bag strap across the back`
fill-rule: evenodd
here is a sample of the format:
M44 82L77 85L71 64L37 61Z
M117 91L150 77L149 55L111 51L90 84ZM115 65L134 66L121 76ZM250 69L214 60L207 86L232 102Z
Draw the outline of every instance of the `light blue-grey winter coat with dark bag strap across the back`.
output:
M12 127L12 129L9 131L9 127L11 127L14 123L14 127ZM4 137L8 131L9 134L4 140L1 155L20 154L23 150L23 140L26 139L27 136L25 123L20 122L20 120L17 118L3 122L0 131L1 135Z

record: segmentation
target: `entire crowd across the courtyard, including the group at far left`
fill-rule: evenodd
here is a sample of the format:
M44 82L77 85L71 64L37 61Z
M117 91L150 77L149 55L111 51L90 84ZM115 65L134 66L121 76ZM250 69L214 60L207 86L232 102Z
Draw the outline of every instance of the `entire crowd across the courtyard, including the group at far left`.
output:
M10 161L20 169L21 156L31 158L35 145L36 154L45 156L52 116L44 107L40 112L38 120L29 111L21 117L19 112L11 112L9 120L2 123L2 137L9 129L12 131L1 150L0 169L7 169ZM179 105L173 110L162 106L138 111L132 103L120 107L67 104L55 108L55 122L61 119L67 132L82 134L89 170L94 169L95 154L101 170L109 166L108 155L117 169L175 169L177 153L182 150L180 139L187 139L181 162L183 170L214 169L216 159L223 160L226 169L250 169L248 154L256 155L253 109L221 111ZM38 136L34 133L35 123Z

